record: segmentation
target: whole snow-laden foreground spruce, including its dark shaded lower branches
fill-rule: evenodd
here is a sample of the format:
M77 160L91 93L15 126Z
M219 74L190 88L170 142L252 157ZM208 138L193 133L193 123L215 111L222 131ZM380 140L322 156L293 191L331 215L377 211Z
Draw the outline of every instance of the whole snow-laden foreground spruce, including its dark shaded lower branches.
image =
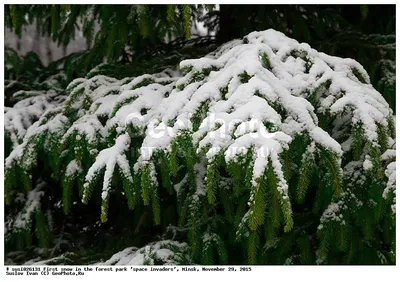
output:
M94 73L7 110L7 252L54 256L88 206L83 229L133 232L108 264L395 263L394 116L358 62L266 30Z

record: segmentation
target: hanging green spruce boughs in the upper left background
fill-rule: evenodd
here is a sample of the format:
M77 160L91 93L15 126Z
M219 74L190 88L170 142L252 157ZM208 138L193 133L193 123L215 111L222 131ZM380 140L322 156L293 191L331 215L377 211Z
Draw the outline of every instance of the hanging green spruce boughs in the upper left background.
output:
M196 9L195 5L6 5L5 23L20 36L23 26L36 23L43 35L60 45L67 45L81 30L92 56L119 59L162 44L166 37L189 39Z

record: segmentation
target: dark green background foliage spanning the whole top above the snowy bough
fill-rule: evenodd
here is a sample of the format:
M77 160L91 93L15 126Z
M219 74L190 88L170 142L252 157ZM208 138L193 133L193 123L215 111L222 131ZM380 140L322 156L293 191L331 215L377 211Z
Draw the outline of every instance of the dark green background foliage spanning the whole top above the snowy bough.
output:
M159 56L177 46L167 43L190 38L194 22L215 31L220 44L273 28L327 54L360 62L395 110L394 7L220 5L216 10L215 5L6 5L5 24L21 35L23 26L36 23L43 35L64 46L81 30L91 48L70 58L79 65L74 78L84 76L103 57L134 65L138 57Z

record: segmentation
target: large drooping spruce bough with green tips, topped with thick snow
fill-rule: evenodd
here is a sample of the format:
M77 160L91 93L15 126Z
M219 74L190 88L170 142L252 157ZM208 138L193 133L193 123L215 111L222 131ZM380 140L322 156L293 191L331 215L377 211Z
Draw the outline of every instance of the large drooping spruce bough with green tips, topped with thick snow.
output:
M184 75L166 70L71 82L67 101L29 127L6 159L7 203L19 189L11 172L35 167L40 152L41 159L56 160L51 169L64 177L64 197L78 181L87 203L103 179L103 222L109 195L119 187L130 208L152 207L155 224L163 220L161 189L175 190L170 197L182 205L180 222L194 258L211 240L205 232L214 234L227 220L236 240L248 241L249 262L260 262L261 238L272 242L281 227L304 232L293 206L310 197L321 216L319 262L329 255L335 222L354 220L370 240L368 215L377 213L379 222L380 205L394 191L394 165L385 170L382 154L395 132L392 110L359 63L267 30L184 60L180 68ZM365 180L354 183L352 174ZM122 185L113 185L118 179ZM365 208L345 205L355 199ZM342 220L336 212L344 206L349 214ZM221 207L227 219L217 212ZM354 240L345 243L351 232L343 232L339 250L351 262Z

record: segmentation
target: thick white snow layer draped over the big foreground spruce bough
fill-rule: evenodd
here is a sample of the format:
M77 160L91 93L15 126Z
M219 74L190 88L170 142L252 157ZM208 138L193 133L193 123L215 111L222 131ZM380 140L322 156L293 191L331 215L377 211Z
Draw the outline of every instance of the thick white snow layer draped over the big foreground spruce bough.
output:
M76 111L77 117L64 138L79 132L95 142L109 137L110 132L120 135L114 146L99 153L86 182L105 168L105 199L116 164L131 178L125 153L130 149L132 129L144 133L136 168L148 163L155 151L170 150L173 138L189 131L198 151L208 150L208 160L223 153L226 161L235 161L238 155L253 150L253 184L271 161L284 194L287 184L278 155L296 134L306 133L316 146L340 156L342 147L333 136L344 125L360 122L368 140L377 143L377 124L387 126L392 111L359 63L319 53L274 30L252 32L247 41L234 40L204 58L182 61L180 67L187 73L181 77L164 71L122 80L98 75L71 82L66 105ZM364 83L359 81L360 76ZM316 91L322 102L314 109L307 99L321 85L327 89ZM85 106L88 102L89 107ZM207 107L201 115L204 105ZM317 111L340 117L335 120L332 136L318 126ZM69 121L63 114L43 125L31 126L24 143L7 158L6 166L21 156L28 136L64 129ZM11 112L9 115L14 117L8 120L19 119ZM106 120L100 122L102 118ZM193 118L200 119L200 128L195 132ZM8 122L6 127L11 124ZM21 124L14 125L17 137L23 137L26 131ZM343 146L349 147L347 143ZM364 164L369 168L368 162Z

